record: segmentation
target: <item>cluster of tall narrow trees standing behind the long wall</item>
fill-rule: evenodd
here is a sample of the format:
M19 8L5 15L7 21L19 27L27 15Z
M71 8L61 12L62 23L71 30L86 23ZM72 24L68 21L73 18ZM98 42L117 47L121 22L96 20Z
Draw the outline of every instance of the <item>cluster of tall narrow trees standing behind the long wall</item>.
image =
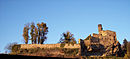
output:
M32 22L30 27L29 25L26 25L23 29L23 37L25 40L25 43L28 43L29 40L29 32L30 29L30 40L32 42L32 44L43 44L44 41L47 39L46 35L48 33L48 27L46 25L46 23L42 22L37 23L37 26L35 26L35 24Z

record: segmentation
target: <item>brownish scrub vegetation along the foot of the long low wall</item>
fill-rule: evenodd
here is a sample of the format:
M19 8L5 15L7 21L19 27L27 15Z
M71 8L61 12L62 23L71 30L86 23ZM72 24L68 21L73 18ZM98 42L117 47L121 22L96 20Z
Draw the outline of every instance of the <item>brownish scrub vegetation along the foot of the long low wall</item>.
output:
M10 54L20 54L20 55L62 55L62 56L77 56L79 53L79 48L30 48L30 49L20 49L20 45L14 45L12 52Z

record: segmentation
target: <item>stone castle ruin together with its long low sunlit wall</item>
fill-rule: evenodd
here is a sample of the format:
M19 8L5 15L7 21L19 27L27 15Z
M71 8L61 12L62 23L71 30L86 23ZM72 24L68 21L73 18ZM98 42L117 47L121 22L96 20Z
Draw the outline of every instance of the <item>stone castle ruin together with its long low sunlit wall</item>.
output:
M121 56L121 45L116 38L116 32L110 30L103 30L102 24L98 25L98 34L90 34L86 39L79 39L79 44L65 44L64 47L60 47L61 44L20 44L19 53L23 50L30 51L32 48L41 49L53 49L49 53L52 54L65 54L60 49L78 49L79 52L76 56Z

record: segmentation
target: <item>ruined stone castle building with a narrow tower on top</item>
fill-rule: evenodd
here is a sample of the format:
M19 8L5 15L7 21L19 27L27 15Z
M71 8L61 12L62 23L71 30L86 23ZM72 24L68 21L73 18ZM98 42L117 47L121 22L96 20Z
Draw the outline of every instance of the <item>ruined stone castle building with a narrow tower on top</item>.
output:
M86 54L88 56L98 54L101 56L117 55L121 51L121 47L119 41L117 41L116 32L103 30L101 24L98 25L98 31L99 34L93 33L89 40L84 40L85 46L88 46Z

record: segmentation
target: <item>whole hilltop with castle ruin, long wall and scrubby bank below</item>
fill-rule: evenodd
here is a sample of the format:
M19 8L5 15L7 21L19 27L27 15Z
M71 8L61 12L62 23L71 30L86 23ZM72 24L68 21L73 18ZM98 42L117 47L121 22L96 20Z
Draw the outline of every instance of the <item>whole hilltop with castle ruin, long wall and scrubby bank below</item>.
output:
M79 39L78 44L16 44L12 46L10 54L59 58L124 56L116 32L103 30L101 24L98 25L98 32L90 34L86 39Z

